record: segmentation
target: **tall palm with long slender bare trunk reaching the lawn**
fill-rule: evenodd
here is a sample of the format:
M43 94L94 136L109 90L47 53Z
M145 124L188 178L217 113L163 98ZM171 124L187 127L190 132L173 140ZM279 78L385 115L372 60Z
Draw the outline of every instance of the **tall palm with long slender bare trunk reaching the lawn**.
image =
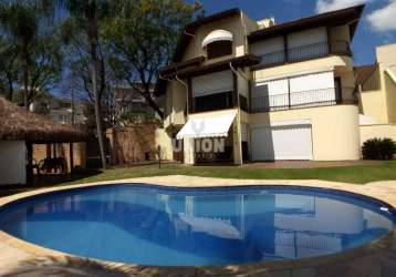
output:
M84 30L88 42L90 59L92 64L92 91L95 103L96 132L100 143L102 167L106 168L106 156L104 146L104 133L102 127L101 110L104 86L100 85L100 72L103 63L100 59L100 22L108 18L114 8L122 1L111 0L58 0L58 6L65 9L69 16ZM72 33L71 33L72 34ZM101 80L103 82L103 79ZM101 86L101 89L100 89Z

